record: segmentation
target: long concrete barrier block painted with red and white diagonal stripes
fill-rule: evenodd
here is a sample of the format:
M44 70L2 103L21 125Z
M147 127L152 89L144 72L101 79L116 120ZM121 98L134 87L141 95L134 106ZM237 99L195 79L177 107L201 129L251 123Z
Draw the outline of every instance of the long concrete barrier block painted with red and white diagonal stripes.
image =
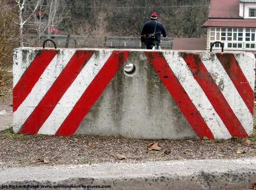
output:
M14 50L13 131L141 139L253 132L249 52ZM133 71L127 65L135 66Z

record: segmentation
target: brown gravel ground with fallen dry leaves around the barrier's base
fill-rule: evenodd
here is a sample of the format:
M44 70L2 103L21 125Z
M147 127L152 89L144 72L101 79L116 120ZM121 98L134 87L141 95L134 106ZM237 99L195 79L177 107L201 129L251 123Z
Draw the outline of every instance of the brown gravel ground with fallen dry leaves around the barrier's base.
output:
M0 104L12 104L11 82L0 85L0 91ZM157 150L149 150L148 144L154 142ZM0 132L1 168L40 164L144 163L255 156L256 128L250 138L229 140L141 140L122 137L18 135L12 132L12 128Z

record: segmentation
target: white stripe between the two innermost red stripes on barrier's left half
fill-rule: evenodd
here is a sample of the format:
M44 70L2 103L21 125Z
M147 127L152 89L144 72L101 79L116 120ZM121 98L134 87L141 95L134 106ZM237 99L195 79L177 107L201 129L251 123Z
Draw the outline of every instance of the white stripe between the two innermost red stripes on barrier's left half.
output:
M94 52L93 56L81 72L78 74L72 85L68 88L67 92L62 96L59 103L56 105L51 115L47 118L45 123L38 131L39 134L55 134L61 124L67 118L68 114L74 108L76 102L81 98L83 92L87 89L88 85L92 82L94 77L101 70L102 66L106 63L112 51L99 50ZM63 107L65 105L65 107Z

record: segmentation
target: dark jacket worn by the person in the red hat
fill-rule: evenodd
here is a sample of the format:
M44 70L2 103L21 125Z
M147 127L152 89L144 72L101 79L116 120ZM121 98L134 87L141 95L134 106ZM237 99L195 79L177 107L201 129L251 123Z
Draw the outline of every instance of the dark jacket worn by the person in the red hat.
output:
M167 36L166 29L161 22L158 22L157 20L146 22L141 30L141 36L145 34L147 34L147 36L142 36L141 42L145 42L145 44L153 44L153 41L157 41L157 45L160 45L161 34L156 35L155 39L148 38L148 34L159 32L162 33L163 37Z

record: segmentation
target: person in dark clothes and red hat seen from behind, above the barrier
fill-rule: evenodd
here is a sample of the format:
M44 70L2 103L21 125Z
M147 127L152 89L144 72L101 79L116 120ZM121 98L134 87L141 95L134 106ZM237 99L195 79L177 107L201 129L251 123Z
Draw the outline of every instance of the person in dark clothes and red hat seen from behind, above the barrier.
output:
M157 35L148 35L151 33L159 33ZM167 37L166 29L161 22L157 21L156 13L151 15L151 20L146 22L141 30L141 42L146 44L147 49L152 49L154 41L156 41L157 49L160 46L161 33L163 37ZM146 35L146 36L145 36Z

